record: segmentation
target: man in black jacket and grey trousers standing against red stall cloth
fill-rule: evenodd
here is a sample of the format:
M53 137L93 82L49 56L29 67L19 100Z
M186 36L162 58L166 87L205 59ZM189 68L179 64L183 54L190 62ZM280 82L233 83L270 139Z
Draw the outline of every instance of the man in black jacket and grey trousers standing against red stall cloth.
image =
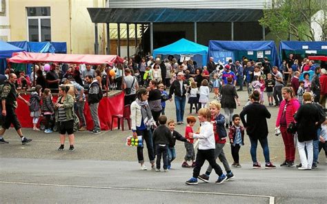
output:
M93 134L100 134L100 121L98 116L98 108L99 108L99 92L101 92L99 82L97 79L93 79L93 76L86 75L85 77L86 83L90 84L88 88L88 105L90 106L91 116L95 123L94 128L92 130Z

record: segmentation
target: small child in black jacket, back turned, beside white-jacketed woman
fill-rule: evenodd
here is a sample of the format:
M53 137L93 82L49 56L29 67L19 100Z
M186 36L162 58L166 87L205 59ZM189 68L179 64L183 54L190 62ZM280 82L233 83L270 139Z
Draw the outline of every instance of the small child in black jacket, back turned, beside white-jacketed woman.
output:
M155 143L157 153L157 168L156 172L160 172L161 157L164 161L164 172L168 172L168 145L172 143L172 134L166 127L167 117L159 116L159 126L153 132L153 141Z

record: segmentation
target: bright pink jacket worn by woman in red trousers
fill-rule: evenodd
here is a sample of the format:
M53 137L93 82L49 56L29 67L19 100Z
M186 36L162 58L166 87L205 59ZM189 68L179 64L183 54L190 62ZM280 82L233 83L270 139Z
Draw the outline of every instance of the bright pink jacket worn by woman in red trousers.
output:
M279 121L281 120L281 114L284 111L286 105L286 100L284 99L283 101L281 101L280 105L279 105L279 111L278 111L278 115L277 115L277 120L276 120L276 127L279 127ZM290 122L294 121L294 117L293 115L295 114L295 112L297 112L297 110L299 109L300 104L299 101L297 101L297 99L290 99L290 102L288 102L288 105L286 107L286 124L290 124Z

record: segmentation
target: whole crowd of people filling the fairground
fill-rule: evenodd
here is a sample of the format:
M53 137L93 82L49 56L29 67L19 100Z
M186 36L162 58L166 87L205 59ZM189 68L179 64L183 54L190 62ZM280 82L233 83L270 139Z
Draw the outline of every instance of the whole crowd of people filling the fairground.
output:
M258 141L264 152L265 167L276 167L270 162L266 120L271 115L266 104L274 106L275 103L275 107L279 108L275 132L277 135L281 133L284 141L285 161L281 166L295 166L295 137L301 159L301 164L297 165L299 170L317 167L317 155L321 148L326 153L326 70L308 59L299 62L294 59L293 54L280 67L271 65L266 57L262 62L243 57L240 61L230 60L226 65L217 64L210 57L207 65L202 68L192 59L178 62L172 56L164 60L153 57L126 59L125 63L118 64L115 68L115 76L111 76L110 68L106 65L86 65L83 68L83 65L59 66L52 63L48 72L43 66L35 65L31 77L20 72L19 79L10 70L6 70L8 80L1 92L1 108L2 115L10 115L10 118L6 116L3 121L1 143L8 143L3 139L3 133L11 123L21 136L23 144L31 141L23 136L14 112L14 104L18 98L30 106L33 130L39 131L37 123L41 112L47 121L46 133L52 132L54 123L50 121L54 118L60 134L61 145L58 150L63 150L67 133L69 150L74 151L74 129L86 130L83 115L86 101L95 123L92 132L99 134L101 127L98 107L102 89L115 84L115 88L125 93L124 105L130 107L133 136L143 137L151 168L160 171L162 158L164 171L168 172L176 158L176 140L182 141L186 155L181 166L194 167L192 178L186 181L190 185L197 184L197 179L208 182L212 168L218 174L216 183L234 178L223 148L229 140L233 158L231 166L241 167L239 150L244 145L245 132L250 138L252 167L261 167L256 155ZM310 77L309 70L314 71L313 77ZM300 80L301 75L303 80ZM107 77L110 78L110 83L107 83ZM17 94L16 87L30 88L31 85L35 86L30 101L26 101ZM237 85L239 89L236 88ZM241 105L237 92L243 91L244 87L248 92L248 103L240 114L235 114L237 105ZM214 101L209 97L210 88L215 93ZM51 93L57 90L59 99L54 103ZM84 94L84 90L88 90L88 96ZM265 93L268 103L264 100ZM176 122L165 116L166 101L172 99L176 107ZM197 119L190 115L186 118L186 130L182 136L175 130L175 125L184 124L187 99L190 114L195 110L201 127L193 132ZM81 124L75 128L77 117ZM143 146L137 147L137 158L141 170L147 170ZM223 163L226 174L216 163L217 158ZM210 166L205 174L200 174L206 160Z

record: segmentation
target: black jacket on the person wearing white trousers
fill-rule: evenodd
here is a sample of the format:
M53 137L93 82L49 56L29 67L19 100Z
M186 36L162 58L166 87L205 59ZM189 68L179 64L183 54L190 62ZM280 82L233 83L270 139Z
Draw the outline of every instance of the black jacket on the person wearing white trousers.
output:
M317 125L319 112L313 103L301 105L294 117L297 121L297 139L300 142L317 139Z

